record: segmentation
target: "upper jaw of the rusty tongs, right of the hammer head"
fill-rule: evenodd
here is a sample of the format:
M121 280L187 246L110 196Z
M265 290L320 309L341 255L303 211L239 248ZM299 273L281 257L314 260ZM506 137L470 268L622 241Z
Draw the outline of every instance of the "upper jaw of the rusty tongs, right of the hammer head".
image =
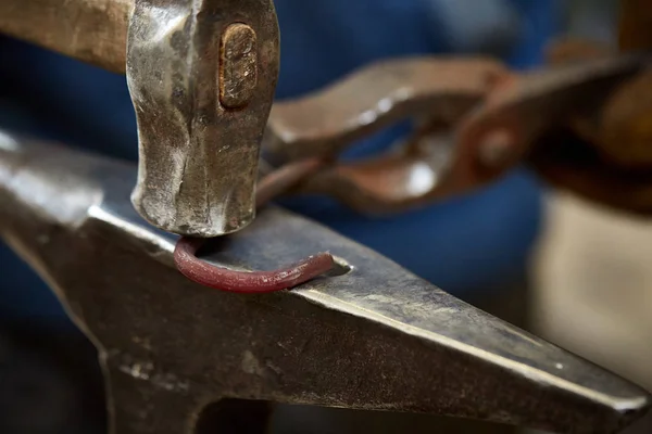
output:
M275 157L291 161L337 155L405 118L452 125L506 73L501 62L482 58L377 62L315 93L276 103L265 144Z

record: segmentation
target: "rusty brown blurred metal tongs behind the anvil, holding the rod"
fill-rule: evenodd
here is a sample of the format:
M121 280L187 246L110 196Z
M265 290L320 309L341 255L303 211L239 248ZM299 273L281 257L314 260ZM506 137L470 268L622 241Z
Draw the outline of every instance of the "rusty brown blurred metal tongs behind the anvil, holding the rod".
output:
M547 131L590 117L647 63L642 54L611 55L521 74L481 58L373 64L273 106L264 140L273 162L263 164L265 200L326 194L379 214L464 194L527 163ZM389 152L339 159L358 140L404 118L413 120L413 132Z

